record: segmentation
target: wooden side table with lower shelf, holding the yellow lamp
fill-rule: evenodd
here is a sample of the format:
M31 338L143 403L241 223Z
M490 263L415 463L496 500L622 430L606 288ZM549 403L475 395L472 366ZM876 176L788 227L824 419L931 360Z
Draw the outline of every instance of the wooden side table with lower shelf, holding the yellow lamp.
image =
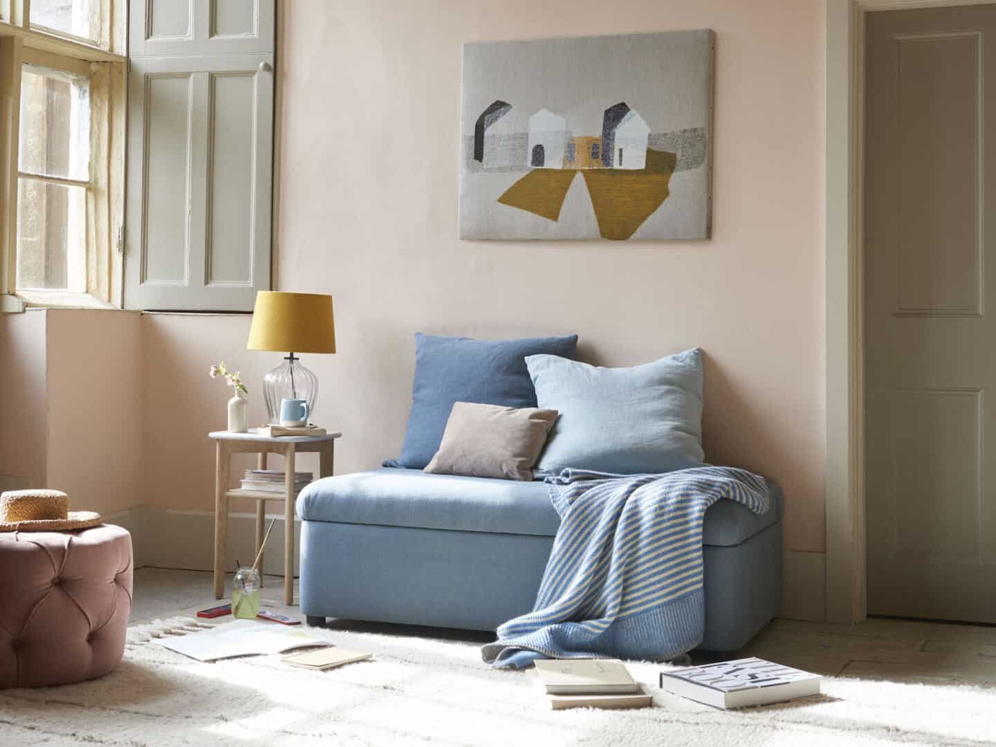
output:
M298 453L317 451L320 454L319 477L331 477L336 439L342 433L324 436L281 436L272 438L250 430L230 433L216 430L208 434L215 442L214 472L214 598L225 593L225 545L228 541L228 499L253 498L256 501L256 553L263 544L263 524L267 501L284 501L284 603L294 604L294 457ZM267 454L284 457L284 493L260 490L229 490L228 477L232 454L259 454L260 469L266 469Z

